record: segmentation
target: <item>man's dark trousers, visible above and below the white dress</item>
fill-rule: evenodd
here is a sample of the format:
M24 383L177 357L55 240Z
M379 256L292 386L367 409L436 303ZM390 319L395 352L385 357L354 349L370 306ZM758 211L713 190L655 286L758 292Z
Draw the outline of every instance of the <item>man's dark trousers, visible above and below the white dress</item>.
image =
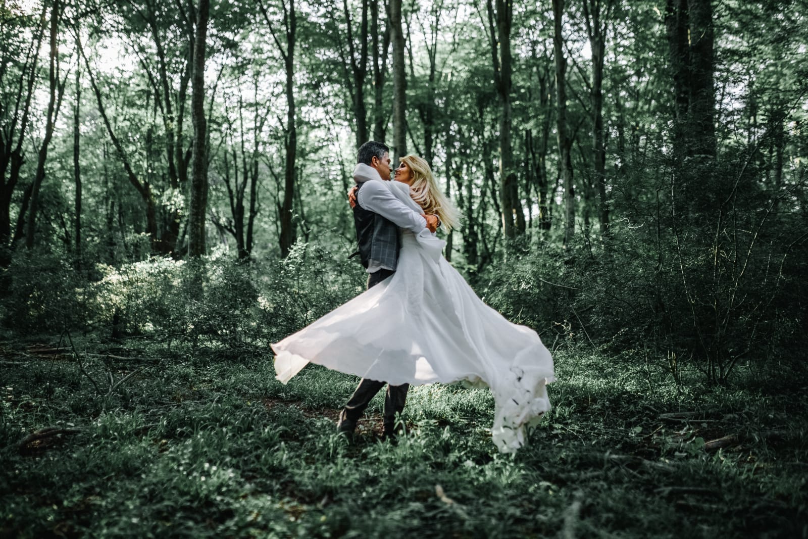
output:
M387 277L393 275L392 270L380 269L368 276L368 288L371 288ZM362 378L356 391L348 399L343 411L339 413L339 423L337 428L343 432L353 432L356 422L359 421L370 400L384 387L385 382L368 380ZM396 414L401 414L406 402L406 392L410 389L409 384L387 385L385 395L385 434L392 434L395 427Z

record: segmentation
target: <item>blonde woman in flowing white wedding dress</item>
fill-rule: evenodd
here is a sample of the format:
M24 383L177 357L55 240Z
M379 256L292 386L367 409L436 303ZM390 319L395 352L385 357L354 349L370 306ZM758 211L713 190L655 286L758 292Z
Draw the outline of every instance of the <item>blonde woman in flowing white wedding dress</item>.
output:
M363 166L370 168L360 164L355 175L365 173ZM457 210L423 158L401 158L390 183L413 210L437 215L447 229L457 225ZM443 240L428 229L399 234L393 276L272 345L276 378L285 384L311 362L389 385L487 385L494 444L515 451L525 443L525 427L550 409L549 351L536 331L508 322L477 297L443 258Z

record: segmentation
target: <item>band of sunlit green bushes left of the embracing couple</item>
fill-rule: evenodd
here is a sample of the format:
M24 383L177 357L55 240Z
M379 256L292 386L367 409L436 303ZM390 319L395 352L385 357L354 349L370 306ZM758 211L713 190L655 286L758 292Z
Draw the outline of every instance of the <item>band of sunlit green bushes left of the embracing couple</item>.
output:
M240 263L217 250L200 263L96 264L89 279L57 253L23 251L8 273L4 318L18 331L245 350L313 322L364 290L366 278L355 260L320 242L298 242L283 260Z

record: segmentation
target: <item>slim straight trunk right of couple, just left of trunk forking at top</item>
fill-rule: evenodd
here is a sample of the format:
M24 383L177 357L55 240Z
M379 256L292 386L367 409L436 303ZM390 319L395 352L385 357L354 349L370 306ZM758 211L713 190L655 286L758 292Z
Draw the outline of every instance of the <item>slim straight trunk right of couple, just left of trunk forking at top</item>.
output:
M566 58L562 36L564 0L553 0L553 54L556 66L556 132L558 133L559 169L562 175L565 198L564 245L569 245L575 234L575 190L572 176L572 144L566 125Z

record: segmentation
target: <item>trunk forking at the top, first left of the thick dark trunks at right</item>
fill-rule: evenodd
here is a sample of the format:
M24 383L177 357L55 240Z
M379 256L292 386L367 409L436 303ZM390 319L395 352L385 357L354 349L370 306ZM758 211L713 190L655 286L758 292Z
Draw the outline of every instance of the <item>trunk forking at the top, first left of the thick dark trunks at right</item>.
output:
M606 1L608 19L612 0ZM608 200L606 196L606 150L604 149L604 56L606 52L606 22L601 24L601 0L584 0L583 14L592 53L592 182L598 192L598 221L600 234L608 232Z

